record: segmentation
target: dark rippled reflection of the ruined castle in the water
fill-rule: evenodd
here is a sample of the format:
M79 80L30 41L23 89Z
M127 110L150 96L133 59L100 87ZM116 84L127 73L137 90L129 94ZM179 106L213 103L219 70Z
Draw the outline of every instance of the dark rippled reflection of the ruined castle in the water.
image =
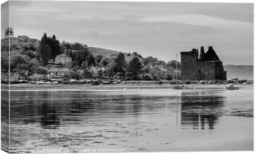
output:
M223 114L226 98L218 92L181 92L181 126L183 129L214 129Z

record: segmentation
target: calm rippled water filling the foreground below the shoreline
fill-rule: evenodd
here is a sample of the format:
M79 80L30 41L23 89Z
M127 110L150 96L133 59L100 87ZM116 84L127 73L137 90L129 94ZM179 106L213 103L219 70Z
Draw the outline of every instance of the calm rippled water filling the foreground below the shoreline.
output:
M252 87L17 91L11 97L11 150L253 150Z

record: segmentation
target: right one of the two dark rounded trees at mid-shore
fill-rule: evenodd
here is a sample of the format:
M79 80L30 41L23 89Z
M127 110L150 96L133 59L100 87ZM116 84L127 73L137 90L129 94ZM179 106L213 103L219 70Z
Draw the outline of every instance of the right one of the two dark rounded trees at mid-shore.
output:
M133 80L137 80L139 74L141 73L142 65L137 57L133 57L133 60L129 62L126 69L126 74L128 74Z

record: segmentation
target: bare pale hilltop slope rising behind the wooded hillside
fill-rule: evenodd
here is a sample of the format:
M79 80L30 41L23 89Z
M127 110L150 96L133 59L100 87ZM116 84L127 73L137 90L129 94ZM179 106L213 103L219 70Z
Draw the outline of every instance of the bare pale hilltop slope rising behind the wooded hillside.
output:
M104 57L110 56L111 54L116 54L118 55L120 52L119 51L114 51L114 50L109 50L105 48L97 48L97 47L89 47L89 51L93 55L101 54ZM126 62L129 62L130 60L133 59L133 56L128 56L127 53L124 53Z

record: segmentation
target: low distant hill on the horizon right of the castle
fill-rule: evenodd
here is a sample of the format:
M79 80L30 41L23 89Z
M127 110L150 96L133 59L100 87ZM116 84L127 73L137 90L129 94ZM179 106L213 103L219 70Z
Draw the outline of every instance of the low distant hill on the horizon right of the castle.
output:
M224 70L227 71L228 78L239 78L253 80L254 67L253 65L224 65Z

